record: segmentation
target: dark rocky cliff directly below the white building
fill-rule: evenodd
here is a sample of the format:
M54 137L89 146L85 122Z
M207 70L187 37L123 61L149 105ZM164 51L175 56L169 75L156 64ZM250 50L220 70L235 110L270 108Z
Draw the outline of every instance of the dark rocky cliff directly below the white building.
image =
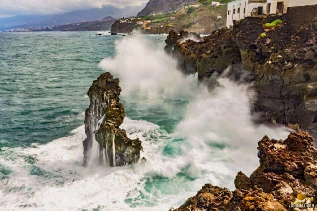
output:
M263 27L275 19L283 23L271 29ZM174 43L175 37L171 32L166 42ZM242 65L250 74L247 82L252 82L258 93L254 111L263 120L317 136L316 5L290 8L278 17L247 17L201 42L176 42L172 54L184 73L198 72L200 80L217 77L228 66L231 74L239 77L235 70Z

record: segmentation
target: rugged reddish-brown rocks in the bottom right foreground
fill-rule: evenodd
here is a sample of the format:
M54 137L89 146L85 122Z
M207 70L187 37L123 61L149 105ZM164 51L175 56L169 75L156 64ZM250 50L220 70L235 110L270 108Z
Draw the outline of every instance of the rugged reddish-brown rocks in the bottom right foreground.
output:
M286 140L265 136L259 143L260 166L247 177L239 172L230 191L206 184L174 211L286 211L299 194L316 199L317 149L307 132L291 133ZM316 207L316 200L312 203Z

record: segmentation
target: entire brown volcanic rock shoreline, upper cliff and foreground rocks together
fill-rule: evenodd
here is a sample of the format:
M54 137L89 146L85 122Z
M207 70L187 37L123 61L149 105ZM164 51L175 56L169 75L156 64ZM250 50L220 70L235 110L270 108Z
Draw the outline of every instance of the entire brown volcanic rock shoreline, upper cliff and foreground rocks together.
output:
M281 24L264 27L277 19ZM224 74L249 83L257 93L252 110L259 121L297 132L286 140L260 140L260 166L250 177L239 172L236 190L205 184L170 210L317 210L317 6L291 8L283 16L247 17L194 41L197 36L171 31L165 40L165 52L184 74L198 74L210 87Z

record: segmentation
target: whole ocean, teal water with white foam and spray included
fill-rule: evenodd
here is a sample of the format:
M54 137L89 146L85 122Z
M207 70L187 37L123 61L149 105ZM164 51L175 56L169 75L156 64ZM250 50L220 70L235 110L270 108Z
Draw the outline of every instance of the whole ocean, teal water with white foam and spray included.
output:
M165 210L205 184L234 189L259 165L257 141L289 131L255 125L248 84L208 90L164 53L166 35L0 33L1 210ZM120 79L126 118L146 164L83 166L87 91Z

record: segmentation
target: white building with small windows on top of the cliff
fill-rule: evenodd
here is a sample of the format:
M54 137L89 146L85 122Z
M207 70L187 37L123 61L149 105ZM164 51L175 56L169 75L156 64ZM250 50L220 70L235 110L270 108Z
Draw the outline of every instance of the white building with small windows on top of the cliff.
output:
M317 0L236 0L228 3L227 28L234 20L241 20L248 16L282 15L289 7L315 5Z

